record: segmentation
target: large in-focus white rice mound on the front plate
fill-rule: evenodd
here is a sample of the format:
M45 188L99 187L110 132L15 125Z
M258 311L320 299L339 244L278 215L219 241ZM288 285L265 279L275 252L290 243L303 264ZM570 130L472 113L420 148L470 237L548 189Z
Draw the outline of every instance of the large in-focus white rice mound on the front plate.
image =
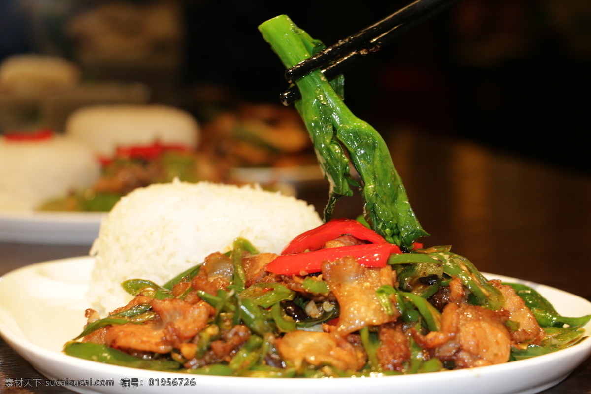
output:
M320 224L305 201L259 187L175 181L138 188L101 224L87 297L104 314L131 300L121 288L126 279L162 285L210 253L230 250L237 237L280 253Z

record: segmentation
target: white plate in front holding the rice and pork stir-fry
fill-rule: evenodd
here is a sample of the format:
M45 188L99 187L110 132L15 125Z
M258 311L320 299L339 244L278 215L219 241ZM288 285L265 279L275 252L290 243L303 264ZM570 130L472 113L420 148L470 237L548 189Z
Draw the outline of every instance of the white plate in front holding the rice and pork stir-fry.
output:
M264 389L281 394L422 394L427 391L438 394L529 394L556 385L591 354L591 340L587 338L569 349L518 362L421 375L342 379L196 376L112 366L60 352L63 344L76 337L85 324L83 314L87 303L84 294L92 265L93 260L89 257L49 261L10 272L0 280L0 333L35 369L55 380L113 382L109 387L69 387L80 393L259 394ZM485 275L490 279L522 282ZM583 298L548 286L523 283L541 292L561 314L591 314L591 303ZM591 324L587 324L586 330L591 330ZM183 380L187 386L157 385L160 379L170 378L170 382L178 383L181 377L188 379ZM122 382L127 384L122 385Z

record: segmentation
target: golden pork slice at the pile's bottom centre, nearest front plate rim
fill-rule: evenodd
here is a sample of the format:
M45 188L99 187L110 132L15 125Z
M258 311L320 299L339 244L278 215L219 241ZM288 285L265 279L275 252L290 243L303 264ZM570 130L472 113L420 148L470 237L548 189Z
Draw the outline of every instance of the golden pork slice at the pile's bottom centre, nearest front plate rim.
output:
M297 368L305 361L313 366L332 365L341 370L359 370L367 356L363 347L329 333L291 331L276 342L284 360Z

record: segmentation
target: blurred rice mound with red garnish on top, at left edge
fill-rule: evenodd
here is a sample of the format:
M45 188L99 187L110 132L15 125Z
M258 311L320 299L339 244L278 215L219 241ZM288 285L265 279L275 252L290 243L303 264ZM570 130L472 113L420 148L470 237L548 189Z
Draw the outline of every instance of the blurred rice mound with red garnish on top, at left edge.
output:
M69 191L90 186L100 175L95 154L63 136L7 141L0 136L0 209L34 210Z

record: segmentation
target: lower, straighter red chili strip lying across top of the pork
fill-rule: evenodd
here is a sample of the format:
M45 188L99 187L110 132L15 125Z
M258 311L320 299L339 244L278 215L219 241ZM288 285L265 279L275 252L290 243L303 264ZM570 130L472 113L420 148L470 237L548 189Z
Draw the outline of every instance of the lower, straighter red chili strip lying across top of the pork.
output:
M392 253L401 253L400 248L387 242L340 246L339 248L318 249L314 252L277 256L268 263L266 269L281 275L301 275L301 272L316 273L321 271L324 261L335 261L345 256L351 256L366 267L385 267Z

